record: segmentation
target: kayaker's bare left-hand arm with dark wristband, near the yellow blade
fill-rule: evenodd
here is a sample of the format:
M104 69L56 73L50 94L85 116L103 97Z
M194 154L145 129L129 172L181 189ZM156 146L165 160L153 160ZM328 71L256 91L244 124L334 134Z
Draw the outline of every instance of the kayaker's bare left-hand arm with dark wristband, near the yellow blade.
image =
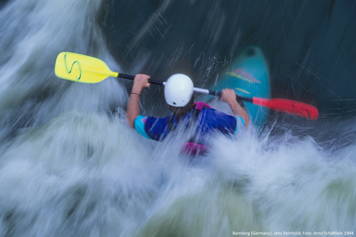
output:
M130 93L129 104L127 105L126 118L131 128L135 128L135 119L140 112L140 96L142 88L149 87L150 76L137 74L133 79L133 86Z

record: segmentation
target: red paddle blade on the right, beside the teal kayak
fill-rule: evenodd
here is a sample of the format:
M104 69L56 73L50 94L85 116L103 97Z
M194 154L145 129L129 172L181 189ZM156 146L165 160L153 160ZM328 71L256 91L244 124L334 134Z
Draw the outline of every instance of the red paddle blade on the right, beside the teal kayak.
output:
M290 99L262 99L253 97L253 104L311 120L316 120L319 116L318 109L314 106Z

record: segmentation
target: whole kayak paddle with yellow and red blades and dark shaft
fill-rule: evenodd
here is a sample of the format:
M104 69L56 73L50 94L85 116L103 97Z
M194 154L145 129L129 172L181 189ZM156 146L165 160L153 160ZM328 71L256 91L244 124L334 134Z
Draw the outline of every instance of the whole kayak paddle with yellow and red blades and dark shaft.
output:
M109 76L133 80L135 76L113 72L104 61L83 54L62 52L57 56L54 72L57 77L83 83L97 83ZM164 86L166 82L148 80L151 84ZM220 91L194 87L194 92L220 96ZM316 120L318 109L310 104L305 104L290 99L263 99L258 97L247 98L236 95L237 100L249 101L268 109L294 114L303 118Z

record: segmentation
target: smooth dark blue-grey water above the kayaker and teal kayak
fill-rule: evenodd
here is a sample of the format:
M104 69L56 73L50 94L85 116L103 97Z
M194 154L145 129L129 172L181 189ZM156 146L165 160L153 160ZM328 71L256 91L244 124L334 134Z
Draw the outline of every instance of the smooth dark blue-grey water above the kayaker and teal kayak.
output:
M128 71L140 61L140 71L157 79L182 71L205 84L256 45L273 97L311 103L322 117L355 114L355 1L107 0L101 21Z

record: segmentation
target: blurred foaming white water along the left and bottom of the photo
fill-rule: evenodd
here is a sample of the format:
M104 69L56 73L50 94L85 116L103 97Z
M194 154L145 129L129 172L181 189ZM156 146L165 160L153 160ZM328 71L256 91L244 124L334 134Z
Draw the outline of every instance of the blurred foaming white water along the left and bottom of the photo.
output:
M162 2L159 14L170 4ZM315 125L277 116L234 139L216 135L209 153L194 160L179 153L188 135L156 142L127 125L132 82L57 78L63 51L126 73L98 23L104 3L9 0L0 7L0 236L356 233L353 118ZM138 58L131 71L148 60ZM159 89L147 90L143 101ZM161 110L162 99L141 108Z

